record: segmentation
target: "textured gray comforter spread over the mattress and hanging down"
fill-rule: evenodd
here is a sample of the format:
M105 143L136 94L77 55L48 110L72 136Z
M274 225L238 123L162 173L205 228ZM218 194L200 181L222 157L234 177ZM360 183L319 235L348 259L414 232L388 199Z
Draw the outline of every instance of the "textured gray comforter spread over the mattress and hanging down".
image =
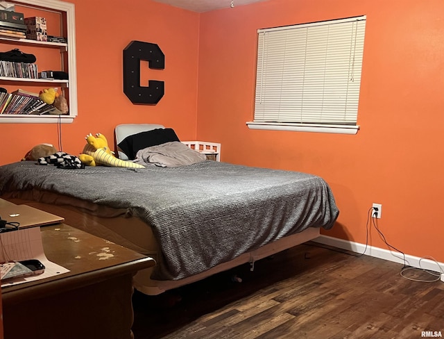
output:
M49 190L127 208L153 227L161 254L152 278L182 279L307 229L330 229L339 210L318 176L203 161L146 169L0 167L0 195Z

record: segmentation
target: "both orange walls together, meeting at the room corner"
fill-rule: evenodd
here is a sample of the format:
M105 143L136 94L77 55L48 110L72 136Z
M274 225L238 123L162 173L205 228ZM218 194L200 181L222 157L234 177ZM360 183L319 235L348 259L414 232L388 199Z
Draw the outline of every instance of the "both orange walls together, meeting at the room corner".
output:
M268 0L200 15L146 0L72 2L79 115L62 126L64 151L78 154L87 133L112 135L121 123L171 126L182 140L221 142L223 161L323 176L341 210L326 235L365 242L376 202L391 245L444 261L441 0ZM356 15L367 15L358 134L249 130L257 28ZM123 94L122 51L131 40L165 53L165 69L144 74L165 81L155 106ZM56 124L0 124L0 135L0 165L40 142L58 144ZM374 229L370 245L386 248Z

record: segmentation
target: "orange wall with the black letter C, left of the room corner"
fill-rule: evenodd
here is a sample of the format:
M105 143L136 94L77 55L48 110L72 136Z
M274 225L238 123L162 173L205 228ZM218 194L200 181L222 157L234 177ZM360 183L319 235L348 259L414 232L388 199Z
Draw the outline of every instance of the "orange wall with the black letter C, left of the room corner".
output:
M78 117L62 124L63 151L80 154L89 132L110 141L114 126L123 123L164 124L181 140L194 140L198 13L146 0L68 2L76 6ZM148 79L165 81L164 97L155 106L133 105L123 94L122 54L132 40L158 44L165 54L162 71L142 62L142 85ZM0 124L0 165L20 160L35 144L57 147L57 130L56 124Z

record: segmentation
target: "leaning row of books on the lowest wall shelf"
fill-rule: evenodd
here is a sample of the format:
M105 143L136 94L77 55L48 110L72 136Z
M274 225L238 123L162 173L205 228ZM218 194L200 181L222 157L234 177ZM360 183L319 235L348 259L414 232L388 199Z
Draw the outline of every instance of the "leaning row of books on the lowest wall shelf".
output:
M20 89L0 93L0 114L42 115L53 109L54 106L42 101L37 93Z

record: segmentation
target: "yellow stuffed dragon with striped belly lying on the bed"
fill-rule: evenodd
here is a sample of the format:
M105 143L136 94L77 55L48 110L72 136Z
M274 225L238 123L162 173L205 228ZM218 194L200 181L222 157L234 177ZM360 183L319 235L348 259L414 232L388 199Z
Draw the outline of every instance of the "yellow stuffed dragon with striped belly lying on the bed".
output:
M87 166L104 165L110 167L145 168L137 163L116 158L114 152L108 147L108 140L101 133L97 133L95 137L89 133L85 139L87 144L83 147L83 152L78 158Z

